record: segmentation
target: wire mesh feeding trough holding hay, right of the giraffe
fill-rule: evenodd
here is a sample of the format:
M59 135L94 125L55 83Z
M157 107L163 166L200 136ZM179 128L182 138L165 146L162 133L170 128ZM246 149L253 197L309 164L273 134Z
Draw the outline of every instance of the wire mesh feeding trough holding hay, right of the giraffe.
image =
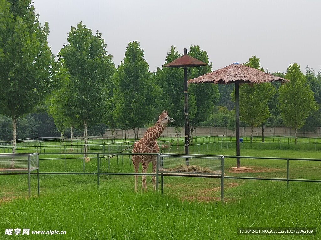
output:
M160 154L159 172L188 174L221 174L222 158L216 155Z

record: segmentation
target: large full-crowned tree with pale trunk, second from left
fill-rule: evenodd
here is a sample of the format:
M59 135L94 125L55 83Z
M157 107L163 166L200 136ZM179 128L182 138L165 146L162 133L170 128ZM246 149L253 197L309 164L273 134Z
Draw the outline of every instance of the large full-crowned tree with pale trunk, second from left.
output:
M108 83L115 67L101 34L97 31L94 36L82 22L71 27L67 41L60 51L70 75L64 91L68 101L62 108L73 122L83 126L87 152L87 126L100 124L111 114Z

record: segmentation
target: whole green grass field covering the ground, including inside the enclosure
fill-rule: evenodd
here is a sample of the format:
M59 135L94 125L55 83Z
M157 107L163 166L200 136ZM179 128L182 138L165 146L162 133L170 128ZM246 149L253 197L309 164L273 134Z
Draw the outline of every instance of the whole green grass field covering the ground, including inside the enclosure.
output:
M48 144L54 145L54 144ZM216 144L218 145L218 144ZM30 145L32 146L32 145ZM171 146L171 152L183 147ZM204 145L202 145L204 147ZM52 148L52 147L51 147ZM191 146L191 149L201 147ZM208 145L204 154L235 155L235 149ZM207 150L208 149L208 150ZM30 148L26 147L28 152ZM43 149L46 150L46 149ZM50 149L58 152L60 149ZM106 150L106 149L105 149ZM69 149L70 151L70 149ZM49 151L48 151L49 152ZM193 153L193 152L192 152ZM242 156L320 158L318 150L241 149ZM40 172L82 172L82 158L62 154L39 155ZM66 165L65 165L66 163ZM225 159L227 176L286 177L285 160L241 159L249 172L234 172L235 158ZM65 168L66 166L66 168ZM96 172L91 156L85 172ZM290 161L290 178L321 179L321 162ZM101 172L134 172L129 156L102 158ZM151 168L148 172L151 172ZM141 177L139 176L139 179ZM224 205L219 178L164 177L164 195L134 193L134 176L31 176L32 198L27 199L26 175L0 176L0 235L6 228L66 231L66 235L30 235L28 239L320 239L316 236L239 236L241 227L313 227L321 231L320 183L224 179ZM139 180L139 188L141 181Z

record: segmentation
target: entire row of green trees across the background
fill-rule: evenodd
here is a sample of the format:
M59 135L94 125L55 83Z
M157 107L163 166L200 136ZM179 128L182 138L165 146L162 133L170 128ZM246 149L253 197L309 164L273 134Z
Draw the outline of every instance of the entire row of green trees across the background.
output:
M67 44L54 56L47 41L48 23L39 23L30 0L0 0L0 8L2 139L9 136L11 126L13 146L17 135L35 137L45 134L40 130L48 129L48 135L59 132L72 137L81 130L86 150L88 133L103 133L107 127L112 132L117 128L133 129L138 138L139 128L153 125L163 110L175 119L173 125L179 134L184 125L182 68L160 67L150 72L138 41L128 44L125 57L116 68L101 34L93 34L82 22L71 27ZM208 63L189 68L189 79L212 70L207 52L198 45L191 45L188 54ZM180 56L171 46L164 65ZM256 56L244 64L264 71ZM308 67L306 70L304 75L300 66L293 63L285 74L272 73L290 80L283 85L242 84L241 124L252 129L261 126L262 130L283 124L296 131L313 131L320 126L321 74ZM232 85L190 84L188 88L191 132L196 126L235 130ZM41 123L39 116L47 125ZM40 124L43 127L39 130L36 126Z

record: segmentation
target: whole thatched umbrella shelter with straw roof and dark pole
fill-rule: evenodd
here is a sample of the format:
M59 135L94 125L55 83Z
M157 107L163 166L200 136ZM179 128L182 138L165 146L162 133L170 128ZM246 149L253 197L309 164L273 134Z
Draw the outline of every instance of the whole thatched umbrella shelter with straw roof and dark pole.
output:
M240 124L239 124L239 84L259 84L266 82L286 82L287 79L273 76L261 70L233 63L224 68L204 74L188 80L188 83L213 83L213 84L235 84L235 114L236 114L236 155L240 155ZM236 159L237 168L240 167L240 158Z

